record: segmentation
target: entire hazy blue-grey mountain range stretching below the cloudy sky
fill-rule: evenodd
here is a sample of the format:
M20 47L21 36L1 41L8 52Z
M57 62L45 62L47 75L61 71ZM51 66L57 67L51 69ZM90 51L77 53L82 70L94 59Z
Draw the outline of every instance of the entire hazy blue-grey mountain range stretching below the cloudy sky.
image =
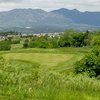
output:
M40 33L98 28L100 28L100 12L80 12L77 9L65 8L51 12L41 9L14 9L0 12L0 31Z

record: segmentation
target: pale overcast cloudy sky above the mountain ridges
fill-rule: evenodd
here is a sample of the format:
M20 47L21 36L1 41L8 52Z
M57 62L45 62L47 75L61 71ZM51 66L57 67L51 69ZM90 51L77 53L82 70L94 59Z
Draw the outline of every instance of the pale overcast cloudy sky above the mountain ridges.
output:
M0 11L33 8L50 11L59 8L100 11L100 0L0 0Z

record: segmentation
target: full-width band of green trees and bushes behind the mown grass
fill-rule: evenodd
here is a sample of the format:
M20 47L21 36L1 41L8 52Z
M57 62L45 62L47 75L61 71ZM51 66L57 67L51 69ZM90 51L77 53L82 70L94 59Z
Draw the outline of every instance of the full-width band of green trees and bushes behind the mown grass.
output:
M83 47L100 45L100 32L77 32L73 30L66 30L63 34L55 37L48 36L31 36L26 37L24 48L59 48L59 47ZM13 33L12 33L13 34ZM0 42L0 50L3 48L11 48L11 44L19 44L23 39L9 38L6 41ZM7 45L6 45L7 44ZM8 50L8 49L7 49Z

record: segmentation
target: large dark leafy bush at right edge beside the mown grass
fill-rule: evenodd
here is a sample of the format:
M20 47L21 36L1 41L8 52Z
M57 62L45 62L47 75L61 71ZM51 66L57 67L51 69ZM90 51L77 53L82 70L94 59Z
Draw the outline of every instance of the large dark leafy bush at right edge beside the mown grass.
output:
M77 62L75 72L77 74L86 72L90 77L100 75L100 49L93 50Z

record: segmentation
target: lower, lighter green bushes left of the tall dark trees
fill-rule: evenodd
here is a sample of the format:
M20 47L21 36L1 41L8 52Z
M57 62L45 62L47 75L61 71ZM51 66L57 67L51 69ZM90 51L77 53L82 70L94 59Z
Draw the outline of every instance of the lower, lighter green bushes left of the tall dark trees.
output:
M57 37L48 37L48 36L41 36L41 37L33 37L29 42L24 42L24 47L30 48L57 48L58 45L58 38Z

